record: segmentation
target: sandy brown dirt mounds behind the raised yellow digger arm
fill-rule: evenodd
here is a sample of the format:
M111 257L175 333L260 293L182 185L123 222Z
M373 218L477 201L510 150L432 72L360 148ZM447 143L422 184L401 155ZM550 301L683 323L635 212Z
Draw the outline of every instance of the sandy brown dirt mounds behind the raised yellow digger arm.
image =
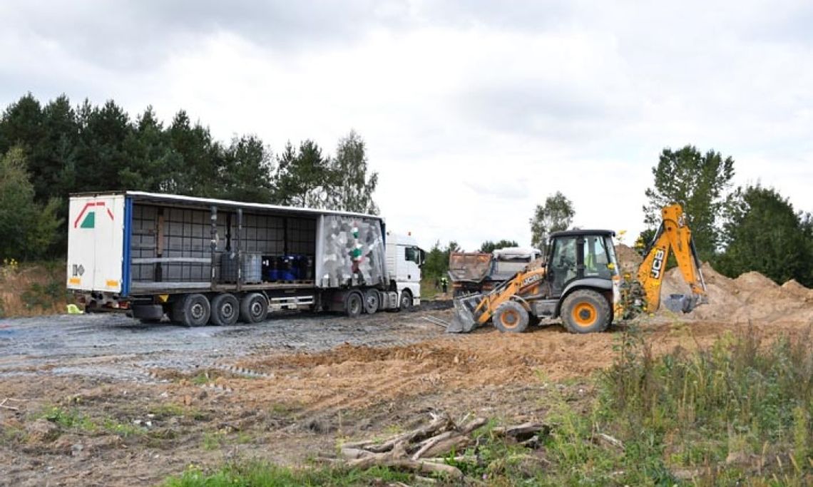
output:
M746 272L731 279L716 272L708 263L703 263L702 273L708 303L698 306L685 318L733 323L813 322L813 290L795 280L780 286L759 272ZM662 295L688 292L680 270L670 269L663 277ZM659 312L668 314L663 307Z

